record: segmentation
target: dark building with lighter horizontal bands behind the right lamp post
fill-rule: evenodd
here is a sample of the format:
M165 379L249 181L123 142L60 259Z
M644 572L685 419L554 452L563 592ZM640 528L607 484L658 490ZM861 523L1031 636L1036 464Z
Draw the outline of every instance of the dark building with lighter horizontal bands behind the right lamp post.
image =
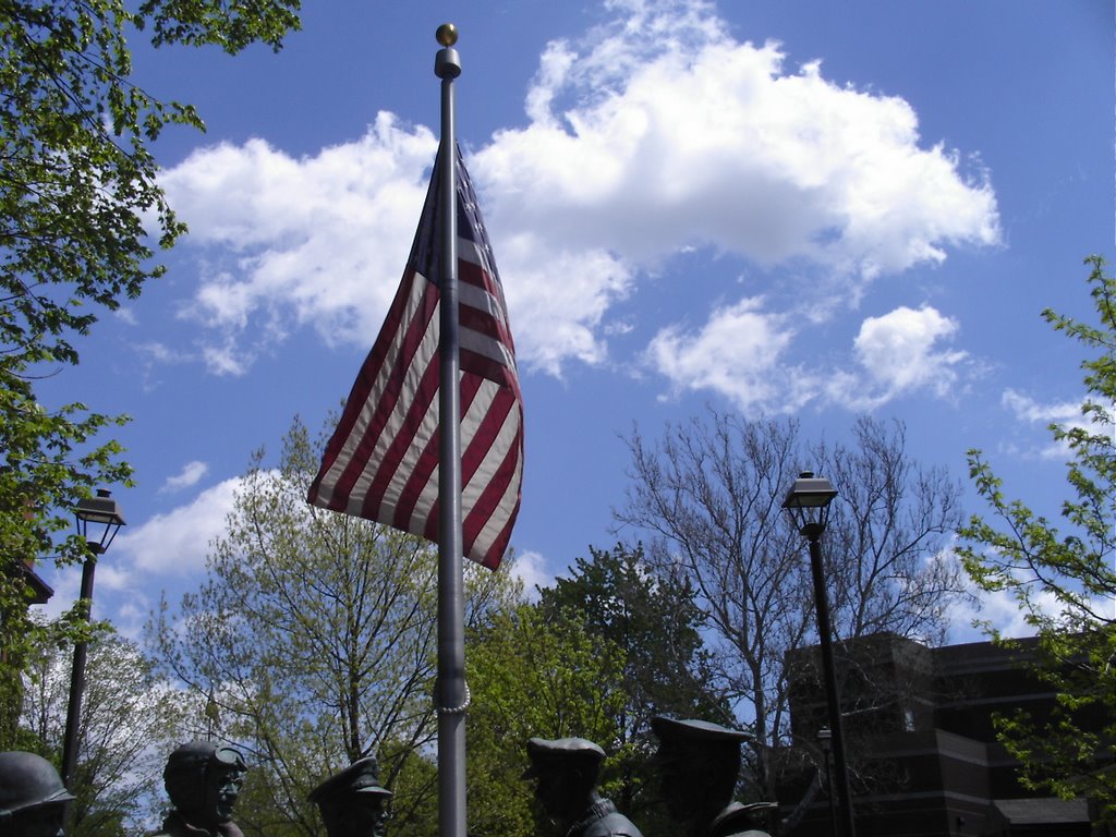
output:
M995 712L1054 705L1049 686L1021 665L1019 651L991 643L930 648L893 634L857 641L839 660L846 750L860 779L854 788L858 837L1112 837L1094 827L1088 800L1036 796L1017 781L1018 763L997 743ZM814 742L828 727L816 648L789 661L791 728ZM816 775L807 751L777 754L786 781L780 801L799 800ZM788 816L793 804L785 805ZM833 834L828 797L817 795L785 837Z

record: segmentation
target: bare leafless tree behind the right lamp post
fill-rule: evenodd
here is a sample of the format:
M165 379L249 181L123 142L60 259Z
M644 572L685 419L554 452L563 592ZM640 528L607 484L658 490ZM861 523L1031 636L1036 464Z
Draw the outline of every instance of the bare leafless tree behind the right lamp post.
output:
M872 419L857 422L850 445L808 445L793 421L711 411L667 425L657 443L636 430L628 448L616 519L652 536L652 566L693 584L716 684L754 735L752 792L773 800L772 752L790 742L788 654L817 642L805 542L781 509L787 490L809 465L839 492L822 543L838 638L933 638L961 587L937 560L960 522L960 487L911 460L902 425Z

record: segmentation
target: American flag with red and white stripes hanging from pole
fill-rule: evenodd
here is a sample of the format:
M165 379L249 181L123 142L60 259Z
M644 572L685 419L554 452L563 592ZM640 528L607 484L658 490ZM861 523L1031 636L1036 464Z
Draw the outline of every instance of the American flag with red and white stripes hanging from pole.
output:
M455 148L461 517L466 558L496 569L519 513L523 407L508 309ZM439 154L403 281L326 445L309 501L437 540Z

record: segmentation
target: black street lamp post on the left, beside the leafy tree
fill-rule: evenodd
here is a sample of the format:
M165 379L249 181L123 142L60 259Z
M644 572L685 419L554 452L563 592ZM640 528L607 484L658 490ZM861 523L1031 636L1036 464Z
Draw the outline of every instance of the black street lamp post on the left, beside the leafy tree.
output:
M81 565L81 616L86 622L93 613L93 575L97 568L97 556L104 555L124 526L121 508L112 493L98 489L96 497L81 500L74 507L77 533L88 547L89 555ZM92 532L90 532L92 529ZM99 535L99 537L98 537ZM88 648L85 639L74 645L74 671L70 674L70 696L66 708L66 738L62 740L62 785L70 788L74 764L77 761L77 733L81 720L81 695L85 693L85 662Z

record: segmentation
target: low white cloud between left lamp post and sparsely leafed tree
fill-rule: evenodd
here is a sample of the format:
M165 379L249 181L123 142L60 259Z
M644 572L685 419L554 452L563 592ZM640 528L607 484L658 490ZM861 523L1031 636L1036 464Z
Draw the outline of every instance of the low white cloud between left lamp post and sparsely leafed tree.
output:
M191 576L204 570L210 541L224 531L240 478L205 489L191 502L155 514L140 527L123 530L113 545L135 569L166 576Z

